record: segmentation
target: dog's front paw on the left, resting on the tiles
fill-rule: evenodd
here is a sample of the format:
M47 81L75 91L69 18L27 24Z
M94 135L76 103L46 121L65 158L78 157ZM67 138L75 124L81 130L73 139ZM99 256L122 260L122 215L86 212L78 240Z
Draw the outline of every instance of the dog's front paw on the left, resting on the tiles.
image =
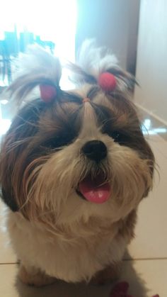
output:
M19 279L21 279L23 284L38 287L47 286L49 284L53 284L56 281L54 277L47 276L40 270L31 269L30 271L28 271L23 265L21 265L18 271L18 277Z

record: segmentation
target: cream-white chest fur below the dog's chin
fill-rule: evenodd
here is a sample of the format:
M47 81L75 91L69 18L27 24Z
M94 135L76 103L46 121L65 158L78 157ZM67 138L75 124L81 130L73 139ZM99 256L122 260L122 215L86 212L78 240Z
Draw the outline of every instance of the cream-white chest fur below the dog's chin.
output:
M113 230L112 230L113 229ZM30 223L18 213L8 212L11 245L25 267L35 267L64 281L88 281L112 262L120 261L126 239L110 232L79 234L76 238L52 235L40 223Z

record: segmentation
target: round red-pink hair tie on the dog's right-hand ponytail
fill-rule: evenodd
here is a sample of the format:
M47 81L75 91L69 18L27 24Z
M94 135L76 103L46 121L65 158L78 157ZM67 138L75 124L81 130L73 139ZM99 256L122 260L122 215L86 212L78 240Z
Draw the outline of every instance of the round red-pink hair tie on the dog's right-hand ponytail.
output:
M110 72L103 72L98 77L98 84L104 91L113 91L117 85L115 76Z

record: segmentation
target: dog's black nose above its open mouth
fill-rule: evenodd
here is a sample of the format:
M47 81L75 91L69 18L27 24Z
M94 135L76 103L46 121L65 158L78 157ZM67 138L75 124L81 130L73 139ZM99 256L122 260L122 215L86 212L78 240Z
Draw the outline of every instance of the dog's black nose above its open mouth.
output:
M100 140L91 140L82 147L82 152L89 159L99 162L107 156L107 147Z

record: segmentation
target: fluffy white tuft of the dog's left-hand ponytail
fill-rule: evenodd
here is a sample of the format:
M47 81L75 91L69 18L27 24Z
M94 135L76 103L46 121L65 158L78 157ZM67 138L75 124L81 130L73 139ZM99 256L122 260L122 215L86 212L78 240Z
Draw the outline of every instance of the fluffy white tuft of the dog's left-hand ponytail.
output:
M62 75L59 60L38 45L29 47L28 52L16 61L16 67L18 67L17 78L6 89L15 103L21 103L39 84L59 86Z

